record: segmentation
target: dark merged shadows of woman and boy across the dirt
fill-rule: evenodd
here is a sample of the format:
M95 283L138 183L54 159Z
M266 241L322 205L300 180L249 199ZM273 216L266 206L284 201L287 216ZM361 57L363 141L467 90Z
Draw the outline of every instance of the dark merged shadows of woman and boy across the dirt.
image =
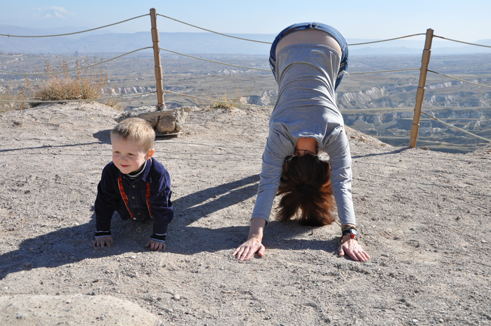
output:
M258 181L259 176L256 174L175 200L175 217L169 225L169 237L166 240L170 251L180 254L216 252L231 250L240 245L247 237L249 226L204 228L190 224L215 211L254 197ZM294 223L271 221L267 228L271 230L263 239L263 244L267 247L325 250L335 248L336 245L334 240L285 240L311 229ZM52 268L89 258L146 251L148 249L145 248L145 243L152 233L152 223L122 221L119 217L113 217L112 230L116 237L111 248L93 247L95 229L95 219L92 216L89 223L62 228L22 241L19 249L0 256L0 280L20 270Z

